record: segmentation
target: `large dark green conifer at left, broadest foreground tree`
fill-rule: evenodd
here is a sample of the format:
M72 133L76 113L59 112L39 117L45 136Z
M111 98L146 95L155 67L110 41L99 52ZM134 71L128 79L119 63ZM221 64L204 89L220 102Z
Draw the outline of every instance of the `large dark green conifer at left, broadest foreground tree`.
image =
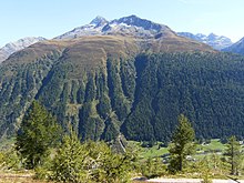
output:
M27 169L41 164L49 149L58 143L61 128L39 102L34 101L24 115L17 133L16 150Z

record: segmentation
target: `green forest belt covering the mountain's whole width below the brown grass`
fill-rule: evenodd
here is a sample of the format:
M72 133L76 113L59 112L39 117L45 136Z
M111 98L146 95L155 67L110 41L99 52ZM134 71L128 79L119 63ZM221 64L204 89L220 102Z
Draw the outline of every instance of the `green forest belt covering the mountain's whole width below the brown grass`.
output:
M170 141L181 113L197 138L244 136L241 55L108 54L102 64L81 68L64 53L0 65L1 136L14 134L34 99L82 140L110 141L123 133L129 140Z

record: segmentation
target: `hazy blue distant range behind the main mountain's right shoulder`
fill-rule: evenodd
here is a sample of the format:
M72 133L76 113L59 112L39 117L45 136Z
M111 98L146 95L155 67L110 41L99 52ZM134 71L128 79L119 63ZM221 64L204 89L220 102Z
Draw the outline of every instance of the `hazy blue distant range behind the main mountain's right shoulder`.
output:
M177 34L181 37L190 38L195 41L206 43L216 50L222 50L233 44L230 38L223 35L216 35L214 33L210 33L209 35L205 35L202 33L193 34L190 32L177 32Z

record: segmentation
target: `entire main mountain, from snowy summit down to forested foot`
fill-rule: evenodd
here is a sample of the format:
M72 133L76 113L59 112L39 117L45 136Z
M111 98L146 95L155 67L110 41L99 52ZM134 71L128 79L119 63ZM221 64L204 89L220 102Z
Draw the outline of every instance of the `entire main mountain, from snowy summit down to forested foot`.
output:
M14 134L34 99L82 140L169 141L180 113L197 136L244 135L243 57L134 16L92 22L108 33L80 27L0 64L0 136Z

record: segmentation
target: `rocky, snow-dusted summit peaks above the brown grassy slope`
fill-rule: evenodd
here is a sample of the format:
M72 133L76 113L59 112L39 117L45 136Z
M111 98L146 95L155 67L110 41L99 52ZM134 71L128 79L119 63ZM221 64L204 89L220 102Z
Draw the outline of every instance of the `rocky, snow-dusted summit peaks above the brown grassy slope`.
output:
M82 35L121 34L136 38L154 38L162 35L175 35L166 26L141 19L136 16L124 17L108 21L96 17L89 24L79 27L54 39L74 39Z

